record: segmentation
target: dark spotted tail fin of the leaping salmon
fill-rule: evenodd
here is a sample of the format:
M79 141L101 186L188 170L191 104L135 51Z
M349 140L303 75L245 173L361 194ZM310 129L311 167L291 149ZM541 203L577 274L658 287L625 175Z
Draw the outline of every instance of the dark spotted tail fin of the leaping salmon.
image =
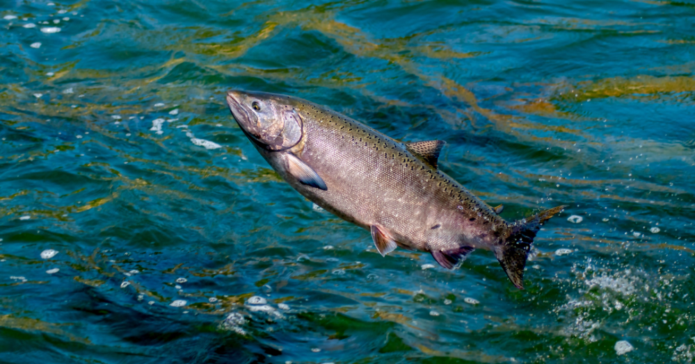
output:
M497 247L495 256L511 283L517 288L524 289L524 267L536 233L541 230L546 220L566 207L557 206L509 226L511 235L506 238L504 245Z

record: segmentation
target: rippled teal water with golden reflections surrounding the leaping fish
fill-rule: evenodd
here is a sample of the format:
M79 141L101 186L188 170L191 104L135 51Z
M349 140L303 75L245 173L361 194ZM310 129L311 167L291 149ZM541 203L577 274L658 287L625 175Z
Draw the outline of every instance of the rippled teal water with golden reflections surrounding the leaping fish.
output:
M692 2L4 0L0 18L0 362L694 361ZM441 169L507 220L570 208L527 290L488 251L382 258L280 180L230 88L445 140Z

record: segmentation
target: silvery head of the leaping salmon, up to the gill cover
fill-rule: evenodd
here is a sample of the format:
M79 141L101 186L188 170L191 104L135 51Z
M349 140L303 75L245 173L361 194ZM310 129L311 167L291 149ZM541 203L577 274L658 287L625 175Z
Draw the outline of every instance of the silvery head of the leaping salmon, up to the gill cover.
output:
M289 149L301 140L302 119L295 104L293 98L280 94L227 92L227 105L237 124L250 140L271 151Z

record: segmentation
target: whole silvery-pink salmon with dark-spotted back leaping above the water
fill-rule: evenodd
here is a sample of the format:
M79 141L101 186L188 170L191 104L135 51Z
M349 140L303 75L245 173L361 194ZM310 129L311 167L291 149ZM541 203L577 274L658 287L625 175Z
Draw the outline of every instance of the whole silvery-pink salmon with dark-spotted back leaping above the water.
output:
M508 224L441 172L444 142L406 144L310 101L230 91L234 119L295 190L330 213L371 231L385 256L396 247L429 251L452 269L474 249L495 252L522 288L523 267L541 224L564 206Z

